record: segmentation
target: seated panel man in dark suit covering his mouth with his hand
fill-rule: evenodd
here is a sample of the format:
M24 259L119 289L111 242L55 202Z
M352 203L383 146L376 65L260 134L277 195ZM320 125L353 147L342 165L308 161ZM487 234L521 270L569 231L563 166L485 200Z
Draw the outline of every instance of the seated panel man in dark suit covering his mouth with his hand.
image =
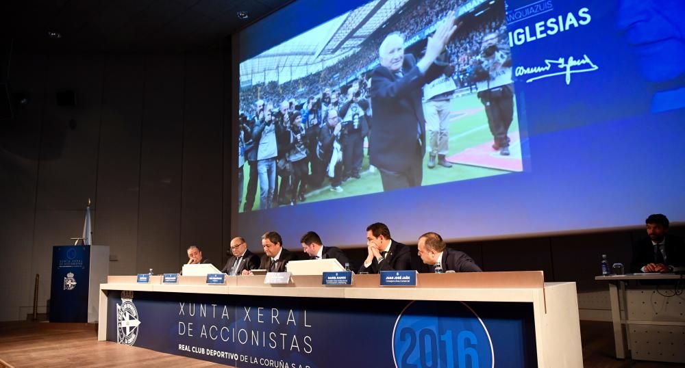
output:
M360 273L412 270L412 256L408 246L391 239L386 224L376 222L366 227L366 250L368 255Z

